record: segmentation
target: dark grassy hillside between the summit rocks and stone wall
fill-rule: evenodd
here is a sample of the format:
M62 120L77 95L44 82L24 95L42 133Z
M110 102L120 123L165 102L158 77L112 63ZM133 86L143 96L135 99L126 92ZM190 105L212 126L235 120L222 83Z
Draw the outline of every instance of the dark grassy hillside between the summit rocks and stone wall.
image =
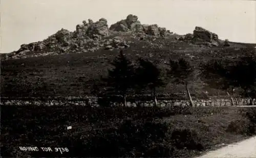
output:
M209 59L228 59L254 53L254 45L230 42L230 47L210 47L176 40L176 35L168 37L148 37L146 40L132 38L129 34L116 34L130 41L130 48L124 54L136 61L139 57L157 61L165 66L169 58L185 58L198 65ZM112 38L112 37L107 37ZM36 53L36 52L34 52ZM90 95L90 88L95 79L107 75L111 62L119 50L98 50L89 53L65 53L22 59L1 61L2 96L83 96ZM192 95L200 95L207 90L209 95L219 93L204 85L198 79L191 81ZM159 89L160 93L180 93L183 85L168 84Z

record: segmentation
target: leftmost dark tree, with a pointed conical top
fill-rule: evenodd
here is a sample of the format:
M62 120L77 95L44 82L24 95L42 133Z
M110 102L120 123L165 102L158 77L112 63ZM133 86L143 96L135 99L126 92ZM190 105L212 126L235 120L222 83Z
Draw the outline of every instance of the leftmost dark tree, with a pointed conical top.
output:
M113 89L115 93L121 94L123 97L123 104L126 106L127 91L135 85L134 74L135 69L132 62L127 59L123 51L120 51L118 57L111 63L114 69L109 70L108 78L105 78L109 89Z

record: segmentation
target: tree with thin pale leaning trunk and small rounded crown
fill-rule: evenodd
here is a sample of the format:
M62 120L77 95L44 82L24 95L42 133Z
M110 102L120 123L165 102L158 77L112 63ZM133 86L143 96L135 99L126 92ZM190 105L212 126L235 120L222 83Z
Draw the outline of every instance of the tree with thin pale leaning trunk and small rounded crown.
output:
M183 58L179 60L169 59L167 65L167 76L171 79L174 79L174 83L185 85L190 106L194 106L193 100L188 89L189 80L192 80L195 77L194 67L191 66L190 63Z

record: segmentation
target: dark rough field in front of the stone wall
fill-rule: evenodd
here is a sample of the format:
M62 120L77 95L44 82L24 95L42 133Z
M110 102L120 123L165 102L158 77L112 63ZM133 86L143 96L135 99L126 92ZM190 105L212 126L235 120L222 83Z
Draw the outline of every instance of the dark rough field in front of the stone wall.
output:
M8 111L1 116L3 156L191 157L251 136L256 108L1 106L1 110ZM19 146L69 151L20 151Z

